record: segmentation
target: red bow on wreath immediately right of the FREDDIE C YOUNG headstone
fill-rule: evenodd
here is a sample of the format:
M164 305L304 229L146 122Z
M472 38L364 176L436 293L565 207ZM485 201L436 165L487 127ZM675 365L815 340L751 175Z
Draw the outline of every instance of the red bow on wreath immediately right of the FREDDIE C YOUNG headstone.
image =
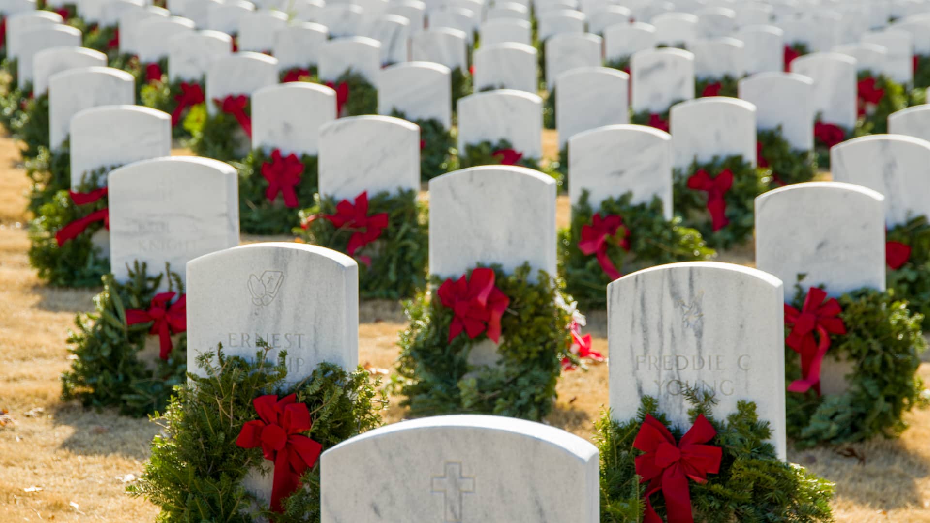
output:
M800 311L785 304L785 325L791 327L785 343L801 355L802 378L788 386L791 392L806 392L813 386L820 394L820 364L830 348L830 333L846 333L843 320L837 318L843 312L840 302L830 298L824 303L826 297L823 289L811 287ZM815 332L820 336L819 343Z

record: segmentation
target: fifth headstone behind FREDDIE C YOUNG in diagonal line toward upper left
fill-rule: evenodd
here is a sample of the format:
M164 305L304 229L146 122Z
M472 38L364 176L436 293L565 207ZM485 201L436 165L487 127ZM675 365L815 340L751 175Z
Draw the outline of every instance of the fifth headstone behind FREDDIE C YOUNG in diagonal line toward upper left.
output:
M167 41L168 78L200 82L210 66L233 53L233 38L219 31L190 31Z

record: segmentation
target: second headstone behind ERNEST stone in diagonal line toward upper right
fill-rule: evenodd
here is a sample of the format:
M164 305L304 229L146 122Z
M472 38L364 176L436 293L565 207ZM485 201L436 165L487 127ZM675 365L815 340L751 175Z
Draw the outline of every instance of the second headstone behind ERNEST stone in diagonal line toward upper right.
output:
M658 196L672 217L671 135L646 125L606 125L579 133L568 143L568 196L578 203L584 190L597 209L607 198L632 192L632 203Z

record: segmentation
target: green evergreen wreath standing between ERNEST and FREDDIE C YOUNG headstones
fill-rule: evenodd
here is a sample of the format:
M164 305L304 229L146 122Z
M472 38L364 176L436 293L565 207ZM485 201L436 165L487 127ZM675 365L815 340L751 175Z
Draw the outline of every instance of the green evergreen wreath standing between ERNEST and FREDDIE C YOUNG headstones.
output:
M410 327L400 333L401 355L395 378L402 405L416 416L449 412L489 413L530 420L551 412L561 360L576 360L571 345L571 313L557 305L557 297L571 303L563 283L529 264L506 274L492 266L495 286L510 298L500 320L498 364L472 366L472 347L489 338L465 333L448 340L455 312L444 307L433 291L420 293L407 303ZM469 271L471 277L472 270ZM442 283L432 277L434 288Z

